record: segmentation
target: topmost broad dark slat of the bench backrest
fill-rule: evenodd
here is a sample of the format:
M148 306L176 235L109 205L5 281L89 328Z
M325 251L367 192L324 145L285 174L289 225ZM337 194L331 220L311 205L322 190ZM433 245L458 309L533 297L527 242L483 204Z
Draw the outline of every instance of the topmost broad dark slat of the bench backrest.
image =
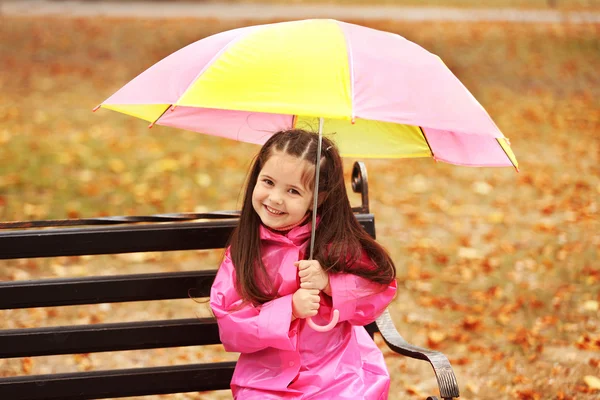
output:
M375 237L373 214L357 214ZM237 219L0 232L0 259L117 254L147 251L219 249L226 246Z

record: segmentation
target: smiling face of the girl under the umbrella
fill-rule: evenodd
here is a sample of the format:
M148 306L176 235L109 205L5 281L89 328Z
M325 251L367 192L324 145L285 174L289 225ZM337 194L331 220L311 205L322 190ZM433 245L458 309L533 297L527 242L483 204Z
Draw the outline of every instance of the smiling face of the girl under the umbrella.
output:
M258 175L252 206L264 225L281 229L300 222L309 210L312 190L302 182L310 163L285 153L273 153Z

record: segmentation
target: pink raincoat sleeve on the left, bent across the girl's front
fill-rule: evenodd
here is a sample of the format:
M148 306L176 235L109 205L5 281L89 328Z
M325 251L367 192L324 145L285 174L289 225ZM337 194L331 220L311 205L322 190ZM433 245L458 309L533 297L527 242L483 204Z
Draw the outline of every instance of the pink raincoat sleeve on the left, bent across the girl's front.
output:
M295 350L298 321L292 319L292 295L254 306L235 289L235 269L229 249L210 290L210 307L217 318L225 350L253 353L267 347Z

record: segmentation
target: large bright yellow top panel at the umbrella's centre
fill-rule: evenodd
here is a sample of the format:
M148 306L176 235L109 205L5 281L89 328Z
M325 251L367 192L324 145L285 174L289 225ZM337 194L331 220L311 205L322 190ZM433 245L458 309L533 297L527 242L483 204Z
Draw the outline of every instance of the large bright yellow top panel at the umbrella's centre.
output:
M350 118L346 41L333 20L265 25L231 44L177 105Z

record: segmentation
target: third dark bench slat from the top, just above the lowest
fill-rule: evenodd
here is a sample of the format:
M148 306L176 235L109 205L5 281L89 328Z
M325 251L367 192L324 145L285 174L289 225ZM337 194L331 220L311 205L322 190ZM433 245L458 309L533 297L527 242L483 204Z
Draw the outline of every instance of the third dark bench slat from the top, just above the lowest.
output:
M214 318L0 331L0 359L219 344Z

